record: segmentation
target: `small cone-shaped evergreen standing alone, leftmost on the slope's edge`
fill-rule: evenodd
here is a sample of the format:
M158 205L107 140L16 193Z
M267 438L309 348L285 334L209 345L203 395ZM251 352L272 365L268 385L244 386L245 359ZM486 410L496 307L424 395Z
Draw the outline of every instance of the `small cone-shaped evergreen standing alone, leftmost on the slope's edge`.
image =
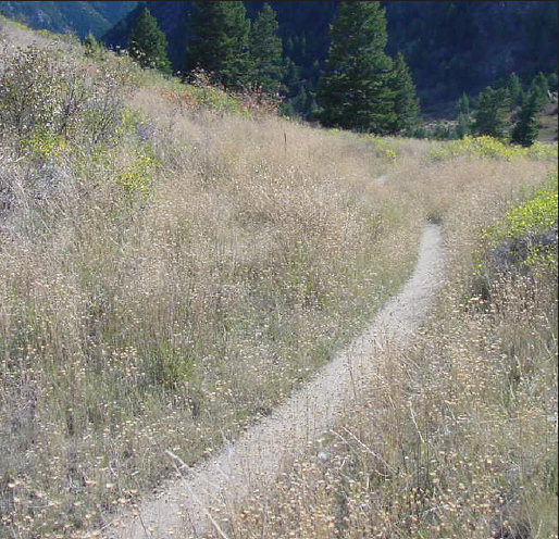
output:
M156 67L163 73L171 73L167 58L167 40L159 29L156 18L145 8L131 33L128 41L129 55L142 67Z

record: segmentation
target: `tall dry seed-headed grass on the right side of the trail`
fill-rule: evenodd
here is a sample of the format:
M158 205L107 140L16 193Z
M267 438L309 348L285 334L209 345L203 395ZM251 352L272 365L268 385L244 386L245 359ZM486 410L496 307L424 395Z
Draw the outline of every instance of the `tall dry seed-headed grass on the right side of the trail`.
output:
M221 514L227 537L558 537L557 262L481 287L474 255L481 229L544 175L521 161L400 172L444 224L451 273L437 309L412 346L375 359L357 409L273 491Z

